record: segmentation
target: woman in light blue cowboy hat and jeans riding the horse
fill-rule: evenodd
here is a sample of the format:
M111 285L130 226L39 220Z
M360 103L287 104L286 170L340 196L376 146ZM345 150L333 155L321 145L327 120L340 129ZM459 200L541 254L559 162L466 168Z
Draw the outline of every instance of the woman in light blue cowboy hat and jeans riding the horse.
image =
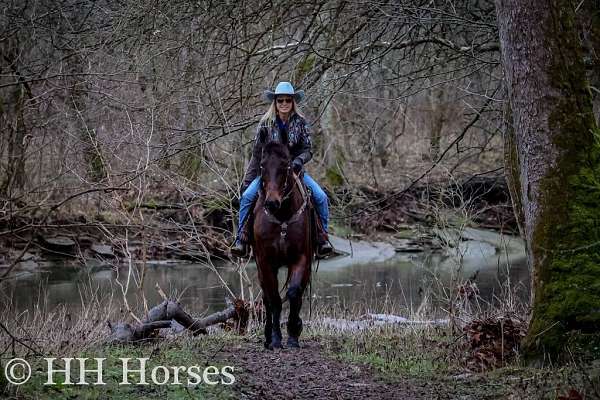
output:
M287 142L293 159L292 168L297 175L302 171L304 164L312 158L309 126L296 106L296 103L304 98L304 91L294 91L291 83L279 82L275 92L265 91L265 97L271 102L271 105L258 124L252 158L244 175L241 189L240 220L237 238L231 249L231 253L238 257L248 255L248 235L245 234L244 224L258 198L260 189L258 170L263 146L271 141L282 142L281 135L287 134ZM333 250L327 237L329 201L323 189L310 175L304 173L303 181L310 188L313 203L321 220L321 232L317 235L317 256L323 257Z

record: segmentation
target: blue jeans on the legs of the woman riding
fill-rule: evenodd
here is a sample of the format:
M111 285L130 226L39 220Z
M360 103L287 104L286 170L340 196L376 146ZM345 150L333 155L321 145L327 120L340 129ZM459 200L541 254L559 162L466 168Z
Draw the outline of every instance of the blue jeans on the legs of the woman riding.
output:
M329 199L327 199L327 194L323 191L323 189L321 189L319 184L306 172L304 173L304 178L302 179L302 181L312 192L312 199L315 205L315 209L317 210L317 214L319 214L319 218L321 219L321 223L323 224L323 229L325 230L325 232L327 232L327 222L329 221ZM244 223L246 222L248 213L250 213L250 208L252 207L252 204L258 198L259 189L260 176L257 176L248 186L248 189L246 189L244 193L242 193L242 198L240 199L240 221L238 223L236 241L240 240L240 232L242 232L242 228L244 227Z

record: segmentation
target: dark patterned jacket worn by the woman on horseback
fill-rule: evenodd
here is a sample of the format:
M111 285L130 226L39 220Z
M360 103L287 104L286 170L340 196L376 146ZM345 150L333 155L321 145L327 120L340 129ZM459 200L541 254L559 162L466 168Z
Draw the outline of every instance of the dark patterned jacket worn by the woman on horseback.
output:
M287 137L292 160L299 159L303 165L310 161L312 158L310 127L306 120L296 113L290 115L287 125ZM281 142L281 132L275 120L259 124L254 138L252 158L250 158L250 163L244 175L242 193L258 176L263 146L272 141Z

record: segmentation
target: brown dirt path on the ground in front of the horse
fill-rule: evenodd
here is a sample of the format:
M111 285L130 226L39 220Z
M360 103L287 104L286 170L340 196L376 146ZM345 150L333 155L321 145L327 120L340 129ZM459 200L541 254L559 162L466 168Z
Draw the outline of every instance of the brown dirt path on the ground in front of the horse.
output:
M438 398L406 382L385 382L368 367L336 361L316 341L277 351L246 342L224 349L217 359L234 366L241 399Z

